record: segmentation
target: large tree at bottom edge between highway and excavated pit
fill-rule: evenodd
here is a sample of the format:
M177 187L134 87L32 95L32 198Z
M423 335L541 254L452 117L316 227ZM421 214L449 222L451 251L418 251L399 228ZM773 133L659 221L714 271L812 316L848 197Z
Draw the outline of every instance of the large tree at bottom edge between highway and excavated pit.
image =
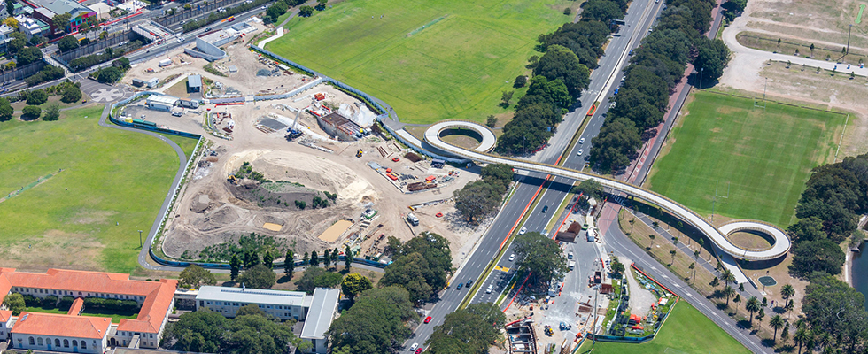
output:
M432 354L484 353L502 339L500 327L506 319L495 304L470 304L447 314L425 344Z

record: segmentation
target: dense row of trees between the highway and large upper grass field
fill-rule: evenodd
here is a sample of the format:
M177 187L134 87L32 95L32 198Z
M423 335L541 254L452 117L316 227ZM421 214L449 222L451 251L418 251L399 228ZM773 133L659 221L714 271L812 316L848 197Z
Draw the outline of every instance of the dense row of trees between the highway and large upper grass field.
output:
M585 4L581 21L539 35L536 49L545 54L531 57L527 65L533 69L531 86L515 106L513 119L503 127L498 151L525 155L548 142L563 114L591 83L590 69L597 67L611 33L607 23L623 18L625 9L623 0L593 0ZM525 81L520 75L515 86Z

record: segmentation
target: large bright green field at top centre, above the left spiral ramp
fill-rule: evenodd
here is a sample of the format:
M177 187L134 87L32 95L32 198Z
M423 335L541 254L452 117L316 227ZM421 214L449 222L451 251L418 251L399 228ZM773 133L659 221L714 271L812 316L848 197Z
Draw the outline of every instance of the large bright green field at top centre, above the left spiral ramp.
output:
M501 93L539 54L537 36L573 19L563 9L575 14L580 3L349 0L292 19L266 49L391 104L402 121L484 122L508 112Z

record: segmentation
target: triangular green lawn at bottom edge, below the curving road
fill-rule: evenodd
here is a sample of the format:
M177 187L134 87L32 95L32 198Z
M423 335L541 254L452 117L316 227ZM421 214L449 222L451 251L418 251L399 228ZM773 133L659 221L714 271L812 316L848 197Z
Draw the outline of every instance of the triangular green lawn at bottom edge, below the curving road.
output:
M579 353L591 350L585 342ZM739 354L750 350L717 327L686 301L679 301L651 342L641 344L597 342L594 354Z

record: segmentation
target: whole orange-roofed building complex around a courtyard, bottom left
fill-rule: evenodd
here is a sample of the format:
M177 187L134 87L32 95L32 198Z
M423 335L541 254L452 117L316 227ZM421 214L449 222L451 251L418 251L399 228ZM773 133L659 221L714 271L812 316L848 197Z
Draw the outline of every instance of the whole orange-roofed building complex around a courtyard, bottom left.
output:
M101 352L106 346L136 343L136 348L157 348L159 339L166 327L168 314L174 307L174 291L178 281L134 281L129 274L83 272L63 269L49 269L46 273L16 272L12 268L0 268L0 294L19 293L21 295L45 298L46 296L72 296L74 298L98 297L104 299L132 300L140 304L136 319L121 319L111 323L111 319L77 316L78 311L66 315L24 312L17 318L12 317L10 343L15 349ZM77 301L81 305L83 301ZM86 308L87 305L85 304ZM27 316L27 319L24 317ZM7 315L7 317L11 317ZM4 312L0 311L0 320ZM47 325L51 323L52 325ZM91 324L93 326L88 325ZM44 325L43 325L44 324ZM95 324L100 324L96 326ZM106 324L106 327L102 327ZM88 336L75 328L89 328ZM93 331L90 331L93 329ZM0 326L0 331L3 327ZM94 332L96 331L96 332ZM100 343L96 335L105 340ZM33 341L31 341L31 337ZM60 345L57 345L58 339ZM70 346L64 345L64 340ZM91 342L81 344L84 339ZM50 341L50 342L49 342ZM75 342L73 342L75 341ZM93 341L97 341L96 343ZM79 344L74 347L72 344ZM86 348L85 348L86 347ZM92 351L97 350L100 351Z

